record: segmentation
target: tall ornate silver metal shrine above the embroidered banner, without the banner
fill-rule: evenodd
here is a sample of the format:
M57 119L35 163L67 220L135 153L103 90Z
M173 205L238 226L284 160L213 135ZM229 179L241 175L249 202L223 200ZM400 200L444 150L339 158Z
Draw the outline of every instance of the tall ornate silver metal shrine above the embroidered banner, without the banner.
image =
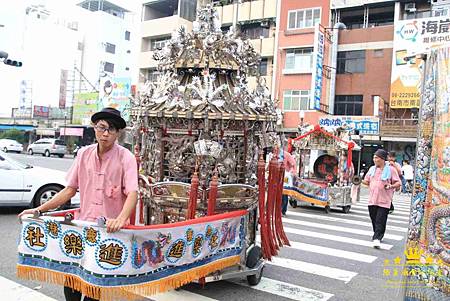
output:
M260 153L277 139L276 104L258 75L259 54L235 28L223 33L208 4L193 31L180 28L154 59L161 75L145 84L131 110L140 222L256 208ZM257 77L254 91L248 76ZM256 210L249 220L254 241Z

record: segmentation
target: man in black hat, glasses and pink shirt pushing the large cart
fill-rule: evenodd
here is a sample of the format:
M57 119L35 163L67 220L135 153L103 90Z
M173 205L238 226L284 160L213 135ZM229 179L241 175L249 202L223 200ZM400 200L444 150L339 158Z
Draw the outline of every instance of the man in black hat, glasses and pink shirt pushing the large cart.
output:
M79 150L67 174L67 187L41 206L23 214L56 209L69 201L79 189L80 211L76 219L96 221L106 218L106 230L116 232L127 225L136 207L138 174L136 159L116 143L120 130L126 127L120 112L104 108L91 117L97 144ZM67 301L81 300L81 293L64 287ZM84 298L84 300L93 300Z

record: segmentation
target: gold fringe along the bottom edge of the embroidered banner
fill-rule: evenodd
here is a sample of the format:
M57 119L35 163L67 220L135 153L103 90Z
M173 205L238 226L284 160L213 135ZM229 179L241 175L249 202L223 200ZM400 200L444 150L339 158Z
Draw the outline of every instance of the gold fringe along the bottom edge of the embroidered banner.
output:
M85 296L102 301L121 299L136 300L142 298L142 296L151 296L178 288L193 280L205 277L217 270L239 264L239 262L240 256L236 255L148 283L123 285L118 287L95 286L75 275L20 264L17 265L17 276L27 280L64 285L81 292Z

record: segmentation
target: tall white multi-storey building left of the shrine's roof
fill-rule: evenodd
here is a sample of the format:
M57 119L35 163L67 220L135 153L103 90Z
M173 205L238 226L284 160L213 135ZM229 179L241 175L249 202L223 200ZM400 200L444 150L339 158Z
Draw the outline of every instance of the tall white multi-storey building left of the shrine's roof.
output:
M78 4L79 19L83 20L80 30L84 32L79 44L79 69L97 90L101 89L103 77L131 78L132 83L137 82L139 17L132 7L127 9L113 2L119 1L86 0ZM86 82L82 84L86 86Z

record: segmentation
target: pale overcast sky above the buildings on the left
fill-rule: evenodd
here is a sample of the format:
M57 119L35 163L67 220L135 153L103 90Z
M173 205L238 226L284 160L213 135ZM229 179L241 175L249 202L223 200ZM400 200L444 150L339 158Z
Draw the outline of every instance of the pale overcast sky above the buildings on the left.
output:
M61 35L62 28L40 22L40 26L25 24L25 8L31 4L45 4L53 17L73 19L75 5L81 0L3 0L0 9L0 50L9 58L23 62L16 68L0 63L0 116L11 115L19 106L20 83L31 80L33 105L58 105L61 69L72 69L68 54L72 37ZM110 0L131 11L139 9L139 0ZM80 20L82 22L82 20ZM54 36L59 36L54 39ZM61 38L62 36L62 38ZM76 45L76 44L75 44ZM56 81L56 85L55 85Z

